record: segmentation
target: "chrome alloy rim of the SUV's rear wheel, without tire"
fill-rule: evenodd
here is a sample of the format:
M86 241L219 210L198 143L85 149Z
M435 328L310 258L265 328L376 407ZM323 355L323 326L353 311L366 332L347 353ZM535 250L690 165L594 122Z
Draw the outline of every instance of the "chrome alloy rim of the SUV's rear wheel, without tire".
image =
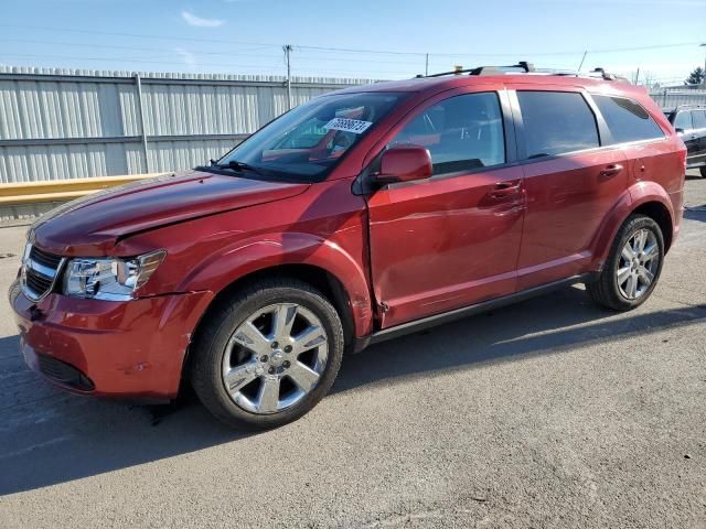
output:
M660 246L654 233L639 229L620 252L616 278L620 293L628 300L642 298L654 282L660 266Z

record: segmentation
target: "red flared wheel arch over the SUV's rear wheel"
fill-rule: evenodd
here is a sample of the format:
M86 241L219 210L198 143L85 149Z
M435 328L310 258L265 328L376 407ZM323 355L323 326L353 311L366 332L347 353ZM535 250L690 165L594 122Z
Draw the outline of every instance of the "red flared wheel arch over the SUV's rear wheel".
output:
M620 227L635 209L648 203L659 203L664 206L670 214L672 226L676 225L674 207L664 187L655 182L638 182L633 184L620 195L593 238L591 244L593 255L591 270L600 270L602 268Z

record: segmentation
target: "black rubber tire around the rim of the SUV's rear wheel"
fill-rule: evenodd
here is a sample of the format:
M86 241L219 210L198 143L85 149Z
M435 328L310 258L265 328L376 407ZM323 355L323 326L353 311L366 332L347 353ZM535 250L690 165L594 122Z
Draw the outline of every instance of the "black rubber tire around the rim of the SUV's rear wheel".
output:
M654 272L654 279L645 292L638 299L629 299L621 292L618 285L618 267L620 264L620 256L625 244L631 237L640 229L648 229L652 231L657 241L659 248L659 262ZM632 215L618 230L616 239L610 248L608 260L603 266L603 270L595 282L588 283L586 289L591 299L607 309L613 311L631 311L644 303L652 291L657 284L660 274L662 273L662 266L664 263L664 236L662 229L651 217L645 215Z

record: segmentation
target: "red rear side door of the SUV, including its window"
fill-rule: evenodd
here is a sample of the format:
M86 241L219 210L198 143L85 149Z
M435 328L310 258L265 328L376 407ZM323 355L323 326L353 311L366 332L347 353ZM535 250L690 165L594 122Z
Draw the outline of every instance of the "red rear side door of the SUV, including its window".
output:
M518 290L525 290L587 270L593 238L627 188L628 171L619 148L601 145L605 122L581 89L513 88L527 195L517 268Z

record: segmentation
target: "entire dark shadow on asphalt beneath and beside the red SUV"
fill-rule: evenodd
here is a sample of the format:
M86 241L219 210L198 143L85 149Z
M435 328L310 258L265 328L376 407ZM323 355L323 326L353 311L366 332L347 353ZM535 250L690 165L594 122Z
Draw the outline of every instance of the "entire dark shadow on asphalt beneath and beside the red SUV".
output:
M706 305L616 315L596 307L578 288L567 288L351 355L332 393L558 354L704 320ZM17 350L17 336L0 339L0 495L224 443L237 451L237 441L252 435L222 427L189 396L172 407L128 407L60 391L29 371Z

